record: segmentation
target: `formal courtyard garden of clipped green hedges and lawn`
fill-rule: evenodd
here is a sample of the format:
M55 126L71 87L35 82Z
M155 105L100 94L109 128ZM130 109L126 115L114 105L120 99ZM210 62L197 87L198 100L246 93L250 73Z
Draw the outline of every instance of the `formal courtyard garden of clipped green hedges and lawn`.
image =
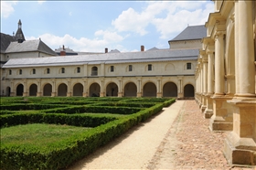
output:
M1 98L1 167L61 169L169 106L165 98Z

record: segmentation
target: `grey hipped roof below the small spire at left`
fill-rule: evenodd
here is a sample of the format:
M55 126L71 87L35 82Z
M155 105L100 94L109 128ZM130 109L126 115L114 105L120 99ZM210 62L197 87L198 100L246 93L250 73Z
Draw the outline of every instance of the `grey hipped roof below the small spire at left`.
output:
M11 42L9 47L5 50L5 53L31 52L31 51L39 51L39 52L47 53L52 56L57 56L57 54L40 39L27 40L22 43Z

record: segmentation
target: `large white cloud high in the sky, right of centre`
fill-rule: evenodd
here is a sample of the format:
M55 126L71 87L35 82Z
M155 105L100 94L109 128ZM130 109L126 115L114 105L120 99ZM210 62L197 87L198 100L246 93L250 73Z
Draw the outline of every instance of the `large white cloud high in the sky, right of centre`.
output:
M112 21L112 25L119 32L132 31L144 36L148 33L146 27L152 24L161 34L161 38L168 38L182 31L188 24L205 24L210 12L213 12L212 2L148 2L140 13L133 8L123 11Z

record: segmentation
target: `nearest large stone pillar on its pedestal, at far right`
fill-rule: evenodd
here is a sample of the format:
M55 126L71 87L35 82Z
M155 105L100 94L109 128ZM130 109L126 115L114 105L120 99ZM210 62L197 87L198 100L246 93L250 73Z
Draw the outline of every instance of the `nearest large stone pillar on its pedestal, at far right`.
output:
M252 1L240 0L235 3L235 16L239 14L238 30L238 78L239 88L233 105L233 131L224 142L224 154L232 165L256 165L256 96L252 24ZM254 11L255 12L255 11ZM236 27L237 29L237 27ZM236 74L237 75L237 74Z

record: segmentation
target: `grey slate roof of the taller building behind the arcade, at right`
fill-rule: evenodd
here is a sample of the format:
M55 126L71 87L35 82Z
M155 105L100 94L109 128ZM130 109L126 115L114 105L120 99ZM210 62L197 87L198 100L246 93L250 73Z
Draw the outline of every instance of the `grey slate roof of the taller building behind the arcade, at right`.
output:
M200 26L188 26L179 35L170 41L180 41L180 40L191 40L191 39L201 39L207 37L207 28L204 25Z

